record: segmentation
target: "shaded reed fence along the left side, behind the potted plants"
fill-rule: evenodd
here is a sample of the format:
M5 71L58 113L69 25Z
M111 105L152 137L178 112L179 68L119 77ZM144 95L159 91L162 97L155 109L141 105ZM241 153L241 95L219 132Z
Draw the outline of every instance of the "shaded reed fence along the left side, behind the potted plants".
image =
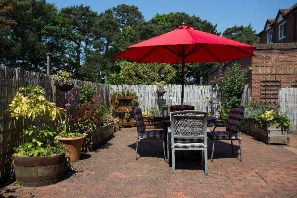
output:
M74 90L80 91L91 82L74 80ZM49 118L42 117L32 121L31 118L10 118L6 111L8 104L15 97L19 87L29 85L39 85L45 89L46 99L56 103L57 106L64 107L66 103L65 92L56 90L53 84L53 76L44 73L27 71L21 67L0 66L0 186L4 182L10 181L13 177L11 166L11 155L13 149L23 142L21 139L23 130L31 125L39 128L45 127L49 123L51 128L57 127L57 121L51 122ZM109 106L109 87L102 84L93 84L98 88L101 99ZM69 115L75 115L76 109L71 108Z

